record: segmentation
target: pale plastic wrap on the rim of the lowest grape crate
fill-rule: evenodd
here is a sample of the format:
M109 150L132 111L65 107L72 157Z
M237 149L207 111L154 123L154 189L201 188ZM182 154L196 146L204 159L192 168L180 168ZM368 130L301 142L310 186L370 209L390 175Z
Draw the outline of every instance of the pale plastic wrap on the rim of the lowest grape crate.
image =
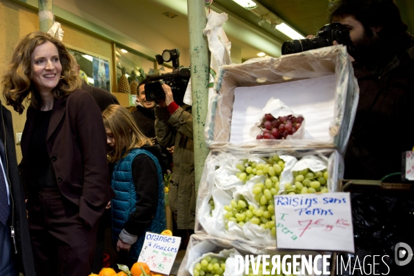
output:
M220 239L218 237L212 237L210 235L195 234L191 235L190 242L186 250L186 255L179 266L177 275L190 276L193 275L191 269L194 268L195 262L201 259L201 256L206 253L213 253L218 255L330 255L324 251L311 251L311 250L277 250L274 246L258 247L254 243L230 241L228 239ZM230 255L232 257L233 255ZM226 262L226 276L243 276L234 273L235 262L234 259L230 262ZM319 268L322 264L318 264ZM308 274L299 273L298 276L305 276ZM322 274L323 275L323 274ZM313 276L309 275L309 276Z

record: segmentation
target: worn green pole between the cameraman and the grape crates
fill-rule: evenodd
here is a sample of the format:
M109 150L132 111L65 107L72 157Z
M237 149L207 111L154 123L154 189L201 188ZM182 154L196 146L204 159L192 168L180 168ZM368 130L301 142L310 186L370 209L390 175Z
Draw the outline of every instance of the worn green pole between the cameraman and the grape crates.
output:
M195 190L198 190L208 148L204 139L208 104L208 43L203 30L207 17L204 0L187 0L190 33L191 92L193 97L193 137Z

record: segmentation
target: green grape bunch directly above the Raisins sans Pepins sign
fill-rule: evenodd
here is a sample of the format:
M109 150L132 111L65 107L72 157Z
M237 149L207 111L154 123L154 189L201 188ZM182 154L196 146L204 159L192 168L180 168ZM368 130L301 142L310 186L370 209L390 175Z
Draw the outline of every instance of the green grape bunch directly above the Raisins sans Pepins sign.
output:
M328 193L328 170L313 172L311 169L296 170L292 172L295 183L285 184L284 194L311 194Z

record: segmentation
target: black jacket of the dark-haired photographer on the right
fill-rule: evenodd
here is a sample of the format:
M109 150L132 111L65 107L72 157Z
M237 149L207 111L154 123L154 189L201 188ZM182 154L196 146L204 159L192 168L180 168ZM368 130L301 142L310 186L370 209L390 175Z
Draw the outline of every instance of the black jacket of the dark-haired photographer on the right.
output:
M386 41L367 70L353 62L359 103L345 155L346 179L380 180L402 170L402 152L414 146L414 37Z

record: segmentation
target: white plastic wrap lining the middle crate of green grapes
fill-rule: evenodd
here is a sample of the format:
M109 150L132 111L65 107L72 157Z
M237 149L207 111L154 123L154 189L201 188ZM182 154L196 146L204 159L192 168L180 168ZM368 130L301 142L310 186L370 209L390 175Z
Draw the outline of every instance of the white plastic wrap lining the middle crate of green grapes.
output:
M269 141L270 142L270 141ZM240 180L235 174L236 164L241 159L251 159L264 162L261 157L279 155L286 166L280 176L280 193L283 193L283 185L292 183L293 176L291 168L297 160L308 159L311 156L324 163L328 170L328 190L338 191L338 179L343 177L343 158L335 148L279 148L276 146L254 147L254 148L217 148L210 150L204 164L203 174L197 193L197 209L195 220L195 232L207 233L215 237L230 240L248 240L267 246L276 246L275 237L270 236L270 229L263 229L258 225L247 222L239 226L228 221L228 229L225 227L224 205L228 205L231 199L240 199L241 196L248 201L249 205L257 206L257 201L252 193L253 186L264 181L264 176L256 176L246 181ZM316 164L315 166L320 166ZM286 175L283 175L283 174ZM290 177L290 178L289 178ZM210 199L213 198L215 208L212 210Z

